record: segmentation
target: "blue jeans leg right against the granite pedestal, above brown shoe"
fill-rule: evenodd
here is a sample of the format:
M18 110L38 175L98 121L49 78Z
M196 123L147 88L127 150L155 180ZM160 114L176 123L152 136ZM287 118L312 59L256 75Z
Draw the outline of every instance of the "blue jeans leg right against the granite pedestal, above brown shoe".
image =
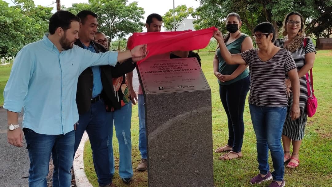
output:
M138 94L138 120L139 120L138 149L139 149L139 152L141 152L141 158L147 159L145 105L144 105L144 95L143 94Z

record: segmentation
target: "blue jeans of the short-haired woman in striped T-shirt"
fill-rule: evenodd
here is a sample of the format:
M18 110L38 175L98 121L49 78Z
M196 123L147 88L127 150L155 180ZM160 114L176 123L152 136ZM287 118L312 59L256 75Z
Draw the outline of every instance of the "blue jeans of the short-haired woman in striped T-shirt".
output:
M286 119L287 107L259 107L249 104L251 121L257 140L258 169L265 175L270 170L269 149L274 172L273 180L284 178L284 150L281 145L281 133Z

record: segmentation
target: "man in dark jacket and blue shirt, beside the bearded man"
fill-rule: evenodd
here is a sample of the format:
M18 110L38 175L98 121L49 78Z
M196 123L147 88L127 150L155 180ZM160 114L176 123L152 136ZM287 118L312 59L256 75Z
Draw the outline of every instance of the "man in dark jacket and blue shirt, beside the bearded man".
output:
M97 15L83 10L77 14L81 19L79 40L75 45L95 53L106 52L107 49L93 42L97 32ZM93 163L101 187L114 187L113 175L110 172L108 160L108 132L107 117L109 115L105 105L115 109L121 108L117 102L112 78L120 77L135 68L131 60L112 66L93 66L85 69L78 78L76 103L79 121L75 132L75 152L87 132L91 142Z

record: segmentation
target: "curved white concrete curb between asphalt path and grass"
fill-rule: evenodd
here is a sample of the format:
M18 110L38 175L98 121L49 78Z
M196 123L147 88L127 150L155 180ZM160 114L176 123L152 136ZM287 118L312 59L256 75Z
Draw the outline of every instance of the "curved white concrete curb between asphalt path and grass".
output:
M80 145L78 146L78 149L74 156L73 166L74 166L76 187L93 187L84 172L83 151L84 151L84 144L87 140L89 140L88 134L84 132Z

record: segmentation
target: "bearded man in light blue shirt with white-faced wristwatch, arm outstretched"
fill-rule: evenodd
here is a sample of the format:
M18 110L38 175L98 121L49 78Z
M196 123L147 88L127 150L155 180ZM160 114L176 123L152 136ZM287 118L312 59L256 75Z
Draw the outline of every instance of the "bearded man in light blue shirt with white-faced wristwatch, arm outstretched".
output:
M73 45L80 19L67 11L56 12L49 21L49 35L23 47L17 54L4 89L8 117L8 142L22 146L18 114L24 111L23 132L30 157L29 186L46 187L52 153L53 187L69 187L74 153L77 80L89 66L112 65L146 55L146 45L128 52L92 53Z

